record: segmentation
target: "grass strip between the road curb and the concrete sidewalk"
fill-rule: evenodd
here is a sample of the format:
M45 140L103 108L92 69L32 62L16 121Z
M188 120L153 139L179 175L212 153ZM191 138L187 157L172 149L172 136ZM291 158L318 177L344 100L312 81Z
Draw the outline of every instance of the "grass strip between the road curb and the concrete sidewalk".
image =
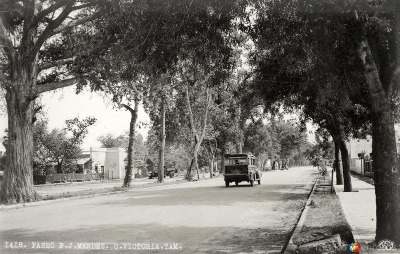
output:
M344 217L339 197L330 194L330 186L323 186L324 182L327 182L326 178L325 181L318 179L301 232L329 228L332 234L339 234L343 242L349 243L352 241L350 226Z

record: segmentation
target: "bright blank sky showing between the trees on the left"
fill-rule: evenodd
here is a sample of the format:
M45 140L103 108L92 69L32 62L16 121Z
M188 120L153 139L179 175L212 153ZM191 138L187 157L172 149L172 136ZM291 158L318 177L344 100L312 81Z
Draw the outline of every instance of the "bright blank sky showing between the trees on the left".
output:
M76 116L79 119L87 116L97 119L94 126L88 128L88 134L81 145L83 151L88 151L90 147L99 147L100 143L96 139L100 135L108 132L119 135L129 129L130 113L125 109L112 108L112 103L108 103L109 101L110 99L104 99L102 96L89 91L75 94L74 86L42 94L42 103L44 111L47 113L49 130L53 128L62 129L65 126L65 120ZM138 108L138 121L150 122L142 105ZM0 119L1 136L5 128L7 128L7 119L6 116L2 115ZM144 139L146 138L147 128L137 128L137 131ZM0 151L5 151L1 144Z

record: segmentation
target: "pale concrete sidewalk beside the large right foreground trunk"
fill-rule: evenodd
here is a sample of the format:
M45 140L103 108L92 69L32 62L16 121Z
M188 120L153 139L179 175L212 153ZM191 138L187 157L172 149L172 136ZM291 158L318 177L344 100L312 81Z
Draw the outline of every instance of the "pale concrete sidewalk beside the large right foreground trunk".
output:
M341 207L351 227L354 240L360 245L359 253L372 254L365 246L375 240L376 205L374 186L351 177L353 192L344 192L343 185L336 185L335 173L333 185L339 196ZM365 249L362 250L362 247Z

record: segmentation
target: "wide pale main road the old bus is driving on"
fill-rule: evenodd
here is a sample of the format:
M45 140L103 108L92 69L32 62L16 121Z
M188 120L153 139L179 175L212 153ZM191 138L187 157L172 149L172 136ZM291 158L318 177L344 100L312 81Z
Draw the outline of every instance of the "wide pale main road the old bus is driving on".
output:
M254 187L225 188L219 178L2 211L0 253L280 253L315 174L290 168L264 173ZM108 249L77 249L82 243Z

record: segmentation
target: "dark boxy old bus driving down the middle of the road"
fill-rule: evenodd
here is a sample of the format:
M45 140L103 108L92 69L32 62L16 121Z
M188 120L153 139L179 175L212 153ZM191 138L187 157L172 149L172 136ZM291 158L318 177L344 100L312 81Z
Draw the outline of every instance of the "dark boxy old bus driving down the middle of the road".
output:
M225 154L223 156L225 186L234 182L237 186L240 182L249 182L254 186L257 181L261 184L261 171L256 169L257 160L251 154Z

